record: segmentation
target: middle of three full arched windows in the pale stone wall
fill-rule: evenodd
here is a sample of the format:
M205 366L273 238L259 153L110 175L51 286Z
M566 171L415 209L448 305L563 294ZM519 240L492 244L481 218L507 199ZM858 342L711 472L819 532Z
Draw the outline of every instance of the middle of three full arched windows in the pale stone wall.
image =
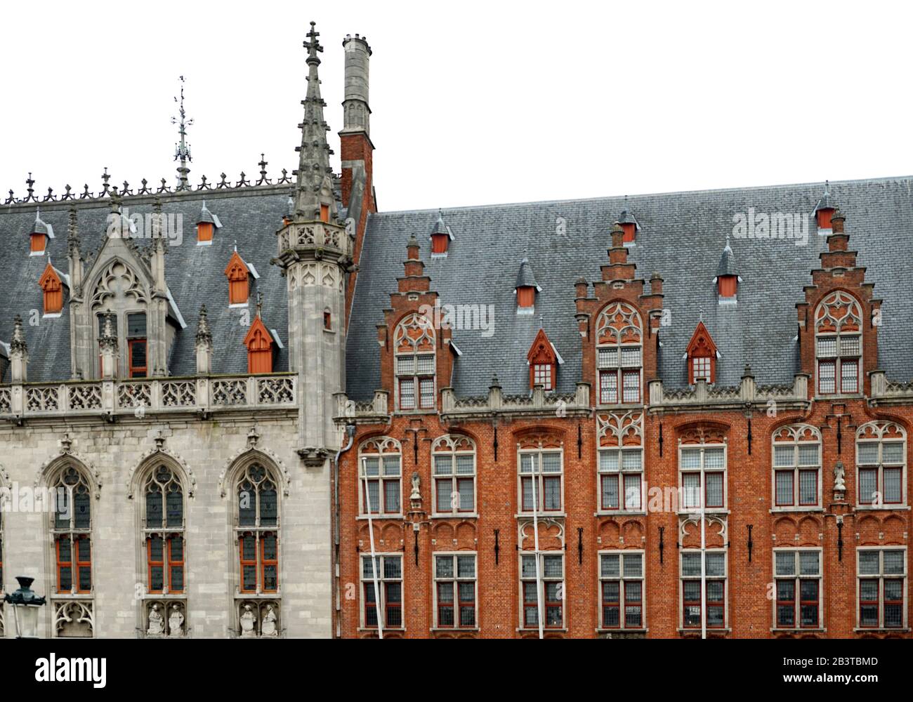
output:
M164 464L155 466L143 485L143 541L146 592L184 592L184 487Z

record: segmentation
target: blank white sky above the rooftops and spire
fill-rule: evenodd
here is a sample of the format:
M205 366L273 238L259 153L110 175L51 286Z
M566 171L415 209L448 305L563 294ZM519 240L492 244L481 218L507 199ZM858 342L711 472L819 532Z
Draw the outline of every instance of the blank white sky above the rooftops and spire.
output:
M173 184L178 76L217 181L297 165L313 19L331 145L368 37L383 210L913 173L913 4L6 3L0 202Z

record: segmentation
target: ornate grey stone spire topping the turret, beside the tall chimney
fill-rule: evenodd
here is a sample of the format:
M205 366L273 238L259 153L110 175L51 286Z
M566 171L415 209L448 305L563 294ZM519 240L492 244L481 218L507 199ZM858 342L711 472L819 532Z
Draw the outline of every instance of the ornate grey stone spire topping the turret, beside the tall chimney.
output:
M298 183L295 187L295 215L306 220L320 219L320 204L331 204L322 202L321 191L324 194L323 199L326 199L328 192L332 198L332 151L330 144L327 143L327 131L330 127L323 119L323 108L327 103L320 97L320 78L317 70L320 66L318 53L323 51L323 47L317 38L320 37L320 32L314 28L315 24L310 23L308 41L304 42L304 47L308 49L308 93L301 101L304 105L304 120L299 124L301 146L298 149ZM334 210L335 207L331 204L331 213Z

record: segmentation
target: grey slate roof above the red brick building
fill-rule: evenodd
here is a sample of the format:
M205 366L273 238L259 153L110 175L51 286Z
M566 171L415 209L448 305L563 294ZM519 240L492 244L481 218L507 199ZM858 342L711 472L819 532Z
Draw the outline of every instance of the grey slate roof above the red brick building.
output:
M607 262L609 232L623 208L641 229L629 260L637 277L658 271L665 279L670 325L660 330L660 374L666 387L687 385L682 361L701 317L720 358L718 383L735 385L746 363L761 384L792 382L798 370L795 303L811 270L820 267L826 239L816 233L812 213L823 183L645 194L563 202L498 204L447 210L447 224L460 233L446 258L432 258L429 242L420 255L441 304L493 306L494 333L454 330L463 355L456 360L458 395L488 392L493 372L504 393L528 393L526 353L542 326L566 361L557 390L570 393L580 379L581 339L574 320L574 281L599 280ZM913 178L831 183L830 202L846 216L850 248L867 267L876 298L884 299L885 324L878 332L879 366L888 378L913 377ZM808 241L731 238L739 263L738 303L719 305L717 275L726 235L738 213L795 213L809 226ZM365 237L349 328L348 393L366 400L380 384L376 324L383 321L389 293L403 275L404 246L412 232L430 230L436 210L371 215ZM557 225L562 217L566 225ZM534 315L517 315L513 284L518 259L529 257L542 291ZM647 284L648 285L648 284ZM592 291L592 288L591 288ZM487 333L487 332L485 332ZM592 382L592 379L586 379Z

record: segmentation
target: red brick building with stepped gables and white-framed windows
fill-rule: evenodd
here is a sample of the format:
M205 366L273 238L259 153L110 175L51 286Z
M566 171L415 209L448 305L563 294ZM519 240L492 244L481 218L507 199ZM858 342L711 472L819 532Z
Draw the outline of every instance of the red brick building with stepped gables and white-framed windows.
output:
M807 190L765 196L792 205ZM683 333L676 316L685 312L672 307L663 278L638 278L633 259L654 242L641 231L645 217L625 236L619 223L633 219L625 205L614 226L604 222L611 234L601 276L566 281L572 306L559 311L539 299L550 290L532 275L535 259L524 259L517 309L503 314L508 335L519 334L517 320L532 320L530 349L505 351L488 367L468 365L477 361L467 361L462 340L473 332L443 307L458 295L453 280L450 298L440 299L424 262L440 267L433 237L442 229L453 241L445 256L458 253L451 218L463 215L464 236L477 236L464 228L465 213L447 215L443 227L439 215L428 246L415 236L407 243L377 346L362 351L360 362L376 354L377 391L359 403L340 397L340 425L357 429L340 461L338 631L376 636L380 619L385 637L411 638L694 637L702 629L752 638L908 637L913 392L886 381L882 303L849 246L849 217L845 228L825 191L808 245L818 246L820 265L808 269L808 284L779 289L796 311L772 320L780 331L761 342L771 349L771 341L785 341L779 372L792 371L792 382L762 384L746 361L761 360L767 378L777 372L747 339L733 349L747 330L733 333L724 315L750 307L751 292L777 289L774 271L763 279L754 278L763 270L757 265L737 272L727 233L712 292L702 298L714 309L696 310L698 322ZM374 220L367 236L387 231ZM760 256L771 247L783 257L798 250L776 235L752 242L733 233L743 256L752 244ZM598 252L574 255L592 260ZM670 268L668 278L701 273ZM503 279L478 284L492 285L504 287ZM541 312L525 318L524 305ZM740 321L760 322L749 314ZM579 332L573 354L566 334L561 348L550 341L561 332L546 330L570 325ZM676 325L677 334L669 329ZM475 341L473 351L490 343ZM726 382L724 371L731 378L737 368L739 381ZM455 392L467 369L496 375L488 393ZM505 375L512 388L521 379L525 392L506 393L498 381Z

